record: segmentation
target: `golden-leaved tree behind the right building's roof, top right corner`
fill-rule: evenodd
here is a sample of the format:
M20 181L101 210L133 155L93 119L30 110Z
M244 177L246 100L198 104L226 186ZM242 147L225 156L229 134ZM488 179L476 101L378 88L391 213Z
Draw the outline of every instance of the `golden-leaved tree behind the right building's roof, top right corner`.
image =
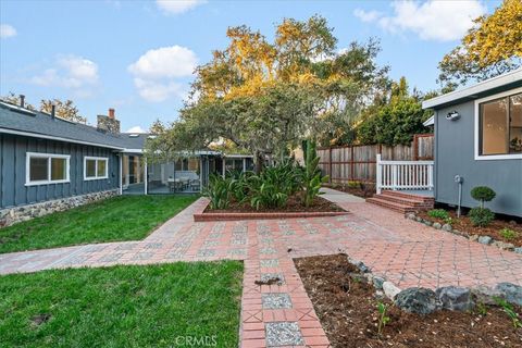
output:
M470 79L484 80L522 66L522 1L505 0L475 25L438 67L438 80L455 88Z

